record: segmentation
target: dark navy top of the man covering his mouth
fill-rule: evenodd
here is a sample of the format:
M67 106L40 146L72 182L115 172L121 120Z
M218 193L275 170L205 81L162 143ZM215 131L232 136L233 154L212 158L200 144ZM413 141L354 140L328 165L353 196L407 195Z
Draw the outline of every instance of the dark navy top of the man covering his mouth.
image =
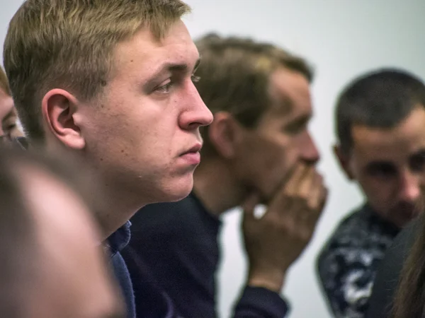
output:
M184 318L216 318L215 275L220 260L217 240L221 221L191 194L179 202L145 206L131 223L130 248L172 300L175 312ZM131 265L128 268L134 282L140 269L134 262ZM137 295L142 294L135 293L139 312L137 307L144 306L145 300ZM285 300L277 293L246 287L234 317L283 318L287 310Z

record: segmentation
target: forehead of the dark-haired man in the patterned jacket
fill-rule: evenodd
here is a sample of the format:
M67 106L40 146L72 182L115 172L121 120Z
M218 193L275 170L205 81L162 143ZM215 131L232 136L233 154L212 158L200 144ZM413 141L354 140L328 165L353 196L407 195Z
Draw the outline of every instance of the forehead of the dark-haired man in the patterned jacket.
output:
M425 148L425 110L416 107L392 129L353 126L353 153L358 159L397 160Z

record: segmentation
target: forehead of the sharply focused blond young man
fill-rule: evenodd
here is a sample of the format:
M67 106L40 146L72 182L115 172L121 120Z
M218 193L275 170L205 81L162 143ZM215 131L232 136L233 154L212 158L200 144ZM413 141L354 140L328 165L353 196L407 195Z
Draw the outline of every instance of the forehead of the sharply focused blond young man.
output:
M118 74L149 76L160 64L195 64L198 58L186 25L179 20L161 40L142 28L130 40L121 42L114 52L114 65Z

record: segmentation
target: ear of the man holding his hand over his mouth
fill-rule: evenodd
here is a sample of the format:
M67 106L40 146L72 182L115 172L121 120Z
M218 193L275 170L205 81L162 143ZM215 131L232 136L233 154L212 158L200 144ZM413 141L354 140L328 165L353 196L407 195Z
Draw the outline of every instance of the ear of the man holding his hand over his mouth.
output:
M234 157L239 126L239 123L229 112L214 114L214 120L208 127L208 138L220 157L225 159Z

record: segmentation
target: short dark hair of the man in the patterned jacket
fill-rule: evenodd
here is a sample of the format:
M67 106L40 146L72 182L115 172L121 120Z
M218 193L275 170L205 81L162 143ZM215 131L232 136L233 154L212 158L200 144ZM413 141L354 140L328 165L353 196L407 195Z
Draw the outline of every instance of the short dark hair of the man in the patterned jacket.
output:
M378 69L354 79L336 102L336 134L341 150L350 153L353 126L391 129L418 106L425 107L425 86L412 73Z

